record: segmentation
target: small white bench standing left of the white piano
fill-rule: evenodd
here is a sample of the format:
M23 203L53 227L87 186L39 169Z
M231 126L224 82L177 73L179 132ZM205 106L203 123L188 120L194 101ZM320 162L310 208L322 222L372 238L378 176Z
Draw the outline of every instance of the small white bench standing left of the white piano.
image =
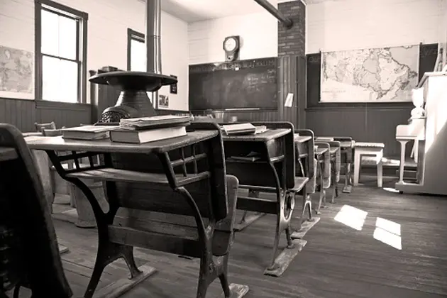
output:
M363 155L372 155L375 158L375 164L377 165L377 187L382 187L383 180L383 148L385 148L384 143L366 143L366 142L355 142L354 148L354 186L358 185L358 180L360 177L360 167Z

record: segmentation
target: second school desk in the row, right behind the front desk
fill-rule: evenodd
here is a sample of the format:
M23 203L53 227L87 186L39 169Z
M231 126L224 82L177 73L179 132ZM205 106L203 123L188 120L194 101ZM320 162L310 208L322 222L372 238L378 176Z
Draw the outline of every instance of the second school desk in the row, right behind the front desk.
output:
M292 227L290 221L294 210L295 194L302 193L307 197L307 177L295 177L294 127L289 122L252 122L254 126L267 126L269 131L275 129L289 130L285 136L268 139L258 136L224 137L226 169L231 175L238 177L241 188L248 189L249 195L238 197L238 209L245 211L275 214L276 228L273 242L272 258L265 272L284 272L289 260L277 262L277 251L282 232L285 232L287 248L293 248ZM268 131L266 132L268 136ZM233 156L246 156L255 152L260 160L254 162L233 160ZM260 196L260 193L266 195ZM275 197L268 196L275 194Z

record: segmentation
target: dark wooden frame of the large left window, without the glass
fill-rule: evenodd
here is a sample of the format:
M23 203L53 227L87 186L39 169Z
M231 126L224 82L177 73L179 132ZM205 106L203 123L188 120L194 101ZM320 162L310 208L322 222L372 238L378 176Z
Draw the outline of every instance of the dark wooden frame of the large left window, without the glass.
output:
M59 16L66 18L72 18L79 21L77 26L77 38L76 38L76 58L75 60L67 59L64 57L57 57L54 55L48 55L42 53L42 11L50 11L56 13ZM35 100L40 102L48 102L43 99L43 72L42 72L42 60L43 56L53 57L57 59L77 62L78 65L78 84L77 84L77 102L73 104L86 104L87 103L87 28L88 28L89 14L77 9L72 9L69 6L59 4L51 0L34 0L34 30L35 30L35 82L34 92ZM79 62L78 62L79 61ZM54 101L51 101L54 102ZM59 101L60 102L60 101ZM66 103L64 104L72 104Z

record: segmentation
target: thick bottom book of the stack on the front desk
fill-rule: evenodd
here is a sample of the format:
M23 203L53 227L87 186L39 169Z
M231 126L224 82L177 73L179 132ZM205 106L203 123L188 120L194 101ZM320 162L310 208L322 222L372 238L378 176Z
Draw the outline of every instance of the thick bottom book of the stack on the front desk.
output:
M132 144L143 144L154 142L155 140L165 140L167 138L177 138L186 135L186 126L155 128L145 131L116 128L110 131L110 139L112 142Z

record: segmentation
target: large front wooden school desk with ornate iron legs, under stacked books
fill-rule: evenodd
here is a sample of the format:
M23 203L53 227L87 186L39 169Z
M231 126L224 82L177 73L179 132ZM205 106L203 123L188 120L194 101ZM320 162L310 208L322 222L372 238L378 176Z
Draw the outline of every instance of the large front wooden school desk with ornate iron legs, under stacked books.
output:
M92 297L104 267L118 258L126 260L131 281L115 282L95 297L118 297L155 271L136 266L133 246L200 258L197 297L205 297L217 277L226 297L230 291L238 297L248 292L246 286L228 285L238 180L226 176L220 128L211 123L188 128L194 131L187 136L145 144L27 138L29 148L45 150L60 176L79 187L92 206L99 245L84 297ZM100 164L93 162L96 155ZM89 165L80 167L80 158L88 158ZM65 170L65 160L74 160L75 168ZM81 179L105 181L109 211L101 209Z

